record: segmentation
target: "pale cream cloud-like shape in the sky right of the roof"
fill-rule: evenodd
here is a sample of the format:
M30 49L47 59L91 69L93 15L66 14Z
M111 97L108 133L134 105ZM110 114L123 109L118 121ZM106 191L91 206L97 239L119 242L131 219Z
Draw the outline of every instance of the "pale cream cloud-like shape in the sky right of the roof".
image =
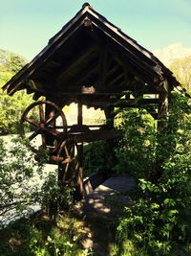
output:
M162 49L154 50L153 54L159 58L164 65L169 67L175 59L191 56L191 48L183 47L181 43L174 43Z

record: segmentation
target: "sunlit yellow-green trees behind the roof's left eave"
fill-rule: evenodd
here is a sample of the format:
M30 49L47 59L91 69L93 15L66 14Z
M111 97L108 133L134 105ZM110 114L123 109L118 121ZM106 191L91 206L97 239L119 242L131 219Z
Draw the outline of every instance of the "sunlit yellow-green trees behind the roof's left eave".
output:
M0 50L0 87L11 80L24 65L26 60L10 52ZM24 91L8 96L0 91L0 134L17 133L19 120L24 109L32 103L32 96Z

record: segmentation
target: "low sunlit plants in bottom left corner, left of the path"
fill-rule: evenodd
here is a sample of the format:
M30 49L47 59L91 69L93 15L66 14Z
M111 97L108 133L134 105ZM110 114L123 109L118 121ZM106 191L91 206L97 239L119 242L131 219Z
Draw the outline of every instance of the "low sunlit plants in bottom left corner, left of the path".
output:
M82 249L79 241L80 223L70 215L51 220L49 216L33 216L31 220L15 221L0 230L0 255L5 256L61 256L92 255Z

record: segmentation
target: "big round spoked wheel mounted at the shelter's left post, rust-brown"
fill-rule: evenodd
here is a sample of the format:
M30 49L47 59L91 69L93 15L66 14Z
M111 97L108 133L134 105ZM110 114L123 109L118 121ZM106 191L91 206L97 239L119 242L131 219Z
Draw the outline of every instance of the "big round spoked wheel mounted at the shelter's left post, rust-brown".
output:
M35 116L33 118L31 117L36 108L38 108L37 119ZM55 127L55 119L58 116L61 118L63 124L61 131L57 130ZM29 136L25 130L25 123L28 123L28 125L30 124L32 130L34 129L32 134ZM66 136L67 122L65 115L57 105L50 101L39 101L32 103L32 105L29 105L25 109L21 117L21 132L23 137L28 136L31 143L37 135L41 135L41 145L39 145L39 148L31 145L32 151L39 152L49 146L51 147L50 150L54 150L56 145L53 143L55 141L58 142Z

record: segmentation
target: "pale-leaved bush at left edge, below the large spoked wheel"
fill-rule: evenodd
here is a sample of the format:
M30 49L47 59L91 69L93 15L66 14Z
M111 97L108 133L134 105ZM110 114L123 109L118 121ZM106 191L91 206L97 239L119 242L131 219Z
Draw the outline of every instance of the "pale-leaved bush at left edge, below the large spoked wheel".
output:
M45 168L47 151L36 162L23 139L4 140L0 140L0 226L28 214L36 204L51 215L73 205L73 191L57 184L57 170Z

